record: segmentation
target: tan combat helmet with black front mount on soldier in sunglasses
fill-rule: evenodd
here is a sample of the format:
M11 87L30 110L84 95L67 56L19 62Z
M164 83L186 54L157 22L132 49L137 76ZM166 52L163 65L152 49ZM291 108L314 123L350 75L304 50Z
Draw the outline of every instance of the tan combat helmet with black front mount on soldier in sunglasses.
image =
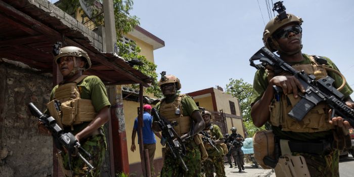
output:
M293 14L287 14L285 12L286 8L283 6L282 2L277 2L274 4L273 11L277 11L279 15L274 17L271 21L265 25L264 31L263 31L263 43L264 46L267 47L269 50L272 52L279 51L279 44L276 41L276 39L273 37L273 34L283 27L284 25L287 25L289 23L297 23L298 25L302 24L302 19L300 17L297 17ZM302 45L301 45L302 48ZM293 52L297 53L299 51ZM290 54L291 55L291 54Z

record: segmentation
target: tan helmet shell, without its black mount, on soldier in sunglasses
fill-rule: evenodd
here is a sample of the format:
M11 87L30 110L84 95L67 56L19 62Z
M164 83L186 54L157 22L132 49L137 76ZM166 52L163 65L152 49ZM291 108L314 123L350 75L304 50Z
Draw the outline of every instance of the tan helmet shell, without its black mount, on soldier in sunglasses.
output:
M279 15L273 18L271 21L265 25L264 32L263 32L263 43L264 46L267 47L272 52L279 50L278 42L273 38L273 33L276 32L278 29L283 27L289 23L297 23L299 25L302 24L302 19L292 14L286 14L287 18L280 20Z

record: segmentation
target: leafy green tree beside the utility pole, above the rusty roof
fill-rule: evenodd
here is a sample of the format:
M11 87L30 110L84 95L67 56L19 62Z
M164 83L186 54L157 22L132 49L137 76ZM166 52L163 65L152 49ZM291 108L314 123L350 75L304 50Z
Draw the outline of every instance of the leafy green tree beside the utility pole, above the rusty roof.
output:
M92 20L95 25L100 26L104 24L103 9L94 5L95 2L99 1L88 0L86 2L91 4L93 10L92 18L94 18ZM146 93L151 93L154 94L155 97L161 98L162 94L160 87L157 85L157 74L155 72L157 66L153 62L148 61L144 56L138 55L141 48L137 46L136 42L123 43L119 40L124 34L132 31L135 26L140 24L137 16L129 14L133 4L132 0L113 0L115 27L118 39L117 47L119 49L118 55L127 61L132 59L141 61L143 65L134 66L134 68L152 78L151 86L146 89ZM80 8L80 4L78 0L61 0L58 7L69 14L73 14L77 8ZM137 85L133 85L133 87L134 89L139 89Z

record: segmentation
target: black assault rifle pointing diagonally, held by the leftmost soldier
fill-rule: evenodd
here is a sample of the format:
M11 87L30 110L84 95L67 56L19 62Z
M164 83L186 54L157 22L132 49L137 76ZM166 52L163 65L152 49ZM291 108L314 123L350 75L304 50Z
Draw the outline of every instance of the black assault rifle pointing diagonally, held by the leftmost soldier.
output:
M81 160L85 162L86 165L89 167L89 171L94 169L94 166L92 166L92 164L87 161L79 152L75 152L76 150L81 150L87 156L89 156L89 158L91 157L91 154L81 147L80 143L76 140L75 136L71 132L65 133L52 116L42 114L39 109L34 106L33 103L29 103L28 108L31 111L31 114L33 116L36 116L39 121L43 122L45 126L51 131L57 149L61 151L63 151L64 149L67 150L69 156L71 156L71 154L78 155Z

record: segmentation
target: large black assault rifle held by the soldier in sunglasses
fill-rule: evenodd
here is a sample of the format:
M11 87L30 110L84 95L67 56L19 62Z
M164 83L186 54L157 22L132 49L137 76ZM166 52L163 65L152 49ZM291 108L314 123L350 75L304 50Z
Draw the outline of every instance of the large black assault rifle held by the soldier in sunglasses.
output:
M261 63L254 64L253 61L255 60L259 60ZM334 115L341 116L347 120L351 126L354 126L354 110L345 104L343 101L344 95L332 86L334 79L330 76L316 80L314 75L307 75L304 71L295 70L265 47L262 47L256 52L249 61L250 65L257 69L269 65L273 67L275 71L277 69L283 70L299 79L300 83L305 88L305 93L299 94L302 99L288 113L290 117L300 121L313 107L320 102L325 102L332 109L332 117L334 117ZM281 92L280 87L274 87L274 89L277 93Z

